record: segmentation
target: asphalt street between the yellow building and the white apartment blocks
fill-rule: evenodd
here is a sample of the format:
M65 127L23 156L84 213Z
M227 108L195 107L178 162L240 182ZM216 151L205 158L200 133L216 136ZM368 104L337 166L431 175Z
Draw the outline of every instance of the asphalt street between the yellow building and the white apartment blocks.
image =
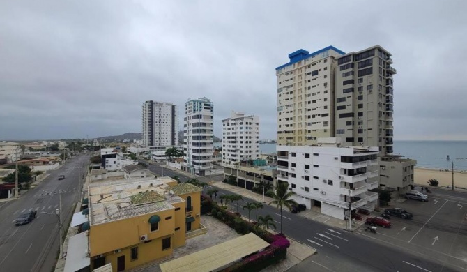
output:
M149 165L155 174L162 175L161 167ZM179 172L163 169L165 176L178 176L181 181L190 179ZM197 177L200 181L220 181L222 175L210 177ZM227 190L218 188L217 196L231 194ZM242 207L245 202L254 202L252 199L243 199L234 204L238 211L247 216L247 210ZM230 205L229 205L230 206ZM256 213L256 211L254 211ZM259 210L259 215L270 214L275 220L277 229L280 229L280 211L275 207L266 205ZM283 232L287 236L312 246L319 250L319 254L301 262L290 271L467 271L464 267L450 267L450 263L441 257L432 257L427 252L418 251L404 243L385 243L374 239L370 234L362 232L346 232L342 229L330 227L321 222L309 220L284 211Z

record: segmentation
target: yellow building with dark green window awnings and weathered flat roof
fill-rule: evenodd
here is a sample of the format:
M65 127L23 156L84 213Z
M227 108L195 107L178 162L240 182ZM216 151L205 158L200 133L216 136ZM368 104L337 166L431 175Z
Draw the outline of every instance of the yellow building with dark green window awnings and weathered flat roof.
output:
M172 255L187 233L199 229L201 188L162 177L150 181L108 181L89 186L91 271L114 271Z

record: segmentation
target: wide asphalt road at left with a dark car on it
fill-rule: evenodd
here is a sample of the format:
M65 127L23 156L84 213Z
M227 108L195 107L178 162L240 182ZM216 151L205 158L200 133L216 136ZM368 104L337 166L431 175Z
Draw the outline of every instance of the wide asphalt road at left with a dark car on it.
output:
M68 227L72 208L81 197L89 156L66 160L59 169L19 199L0 203L0 271L50 272L59 252L59 192L62 196L63 225ZM59 175L66 178L59 181ZM15 226L17 215L37 211L37 218Z

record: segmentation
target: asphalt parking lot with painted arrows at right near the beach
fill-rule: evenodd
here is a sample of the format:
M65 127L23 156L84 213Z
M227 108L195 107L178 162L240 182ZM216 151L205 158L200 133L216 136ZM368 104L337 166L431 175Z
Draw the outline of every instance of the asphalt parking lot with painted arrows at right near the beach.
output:
M413 213L413 219L392 216L391 228L371 234L360 227L360 234L467 269L467 199L433 193L429 202L398 199L394 207Z

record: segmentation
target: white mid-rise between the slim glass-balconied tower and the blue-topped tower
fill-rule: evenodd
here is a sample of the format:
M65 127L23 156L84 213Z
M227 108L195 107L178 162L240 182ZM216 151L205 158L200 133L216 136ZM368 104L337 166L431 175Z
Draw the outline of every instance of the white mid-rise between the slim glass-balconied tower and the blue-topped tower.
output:
M222 163L256 160L259 156L259 117L231 112L222 120Z

